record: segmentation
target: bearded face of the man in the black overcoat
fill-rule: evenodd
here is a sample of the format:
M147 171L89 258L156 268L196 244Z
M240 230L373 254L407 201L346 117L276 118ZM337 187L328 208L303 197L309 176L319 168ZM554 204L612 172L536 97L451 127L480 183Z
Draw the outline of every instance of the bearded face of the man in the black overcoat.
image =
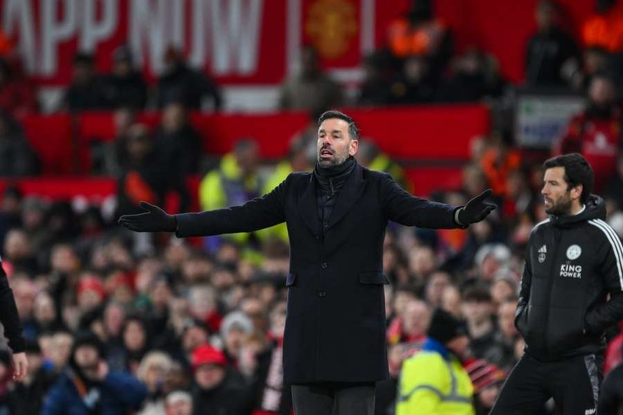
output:
M329 118L318 128L318 164L321 167L339 166L349 156L354 156L359 141L352 139L348 123L341 118Z

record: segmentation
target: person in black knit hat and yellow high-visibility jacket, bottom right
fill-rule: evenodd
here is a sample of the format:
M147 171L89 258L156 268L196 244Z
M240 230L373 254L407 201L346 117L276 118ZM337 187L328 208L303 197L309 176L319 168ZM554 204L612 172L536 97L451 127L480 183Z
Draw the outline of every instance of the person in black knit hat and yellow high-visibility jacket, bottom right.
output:
M402 365L396 415L475 415L461 362L469 345L462 322L438 308L426 335L422 351Z

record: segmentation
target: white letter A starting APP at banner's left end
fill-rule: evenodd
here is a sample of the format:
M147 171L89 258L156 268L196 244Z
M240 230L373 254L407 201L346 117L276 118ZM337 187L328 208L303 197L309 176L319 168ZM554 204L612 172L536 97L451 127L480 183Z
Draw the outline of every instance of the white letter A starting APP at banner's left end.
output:
M24 58L24 68L29 72L35 71L37 48L32 4L26 0L4 0L2 15L2 30L8 35L19 33L19 51Z

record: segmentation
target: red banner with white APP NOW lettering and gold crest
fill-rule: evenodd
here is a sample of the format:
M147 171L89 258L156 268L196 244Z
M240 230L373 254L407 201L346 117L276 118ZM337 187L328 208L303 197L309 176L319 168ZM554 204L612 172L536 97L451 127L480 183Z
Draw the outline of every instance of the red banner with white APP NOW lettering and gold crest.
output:
M0 0L0 21L43 85L69 82L79 50L95 51L98 70L109 71L123 44L149 80L174 46L222 84L274 85L296 71L303 44L318 48L327 69L359 67L375 46L376 8L375 0Z

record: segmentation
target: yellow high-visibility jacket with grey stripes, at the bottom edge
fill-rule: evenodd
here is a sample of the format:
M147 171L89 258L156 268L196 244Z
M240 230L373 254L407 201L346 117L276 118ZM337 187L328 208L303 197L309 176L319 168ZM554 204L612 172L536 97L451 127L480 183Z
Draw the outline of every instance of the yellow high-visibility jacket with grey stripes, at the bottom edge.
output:
M467 371L456 357L431 350L430 344L428 339L402 365L396 415L475 415Z

